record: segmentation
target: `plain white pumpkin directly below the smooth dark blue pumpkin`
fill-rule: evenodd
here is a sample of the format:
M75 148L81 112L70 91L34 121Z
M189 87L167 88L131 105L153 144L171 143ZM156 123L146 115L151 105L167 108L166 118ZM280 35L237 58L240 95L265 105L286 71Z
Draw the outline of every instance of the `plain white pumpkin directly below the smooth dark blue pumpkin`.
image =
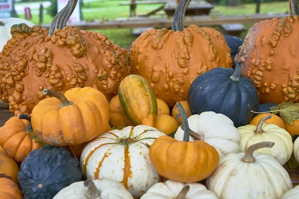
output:
M240 152L240 134L234 122L227 116L213 111L194 114L188 118L189 129L203 134L203 141L215 147L220 159L230 153ZM184 131L178 127L174 139L183 140ZM190 136L189 141L194 141Z

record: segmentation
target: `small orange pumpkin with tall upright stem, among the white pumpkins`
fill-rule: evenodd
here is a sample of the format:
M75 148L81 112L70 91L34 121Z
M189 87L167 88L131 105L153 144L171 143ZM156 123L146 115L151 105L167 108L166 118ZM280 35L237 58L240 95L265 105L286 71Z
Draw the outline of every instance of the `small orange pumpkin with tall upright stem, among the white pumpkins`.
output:
M177 106L183 118L183 141L160 136L150 146L149 158L154 169L165 178L184 183L198 182L214 172L219 163L219 154L204 141L189 141L190 129L186 115L181 104ZM198 135L194 132L192 134Z

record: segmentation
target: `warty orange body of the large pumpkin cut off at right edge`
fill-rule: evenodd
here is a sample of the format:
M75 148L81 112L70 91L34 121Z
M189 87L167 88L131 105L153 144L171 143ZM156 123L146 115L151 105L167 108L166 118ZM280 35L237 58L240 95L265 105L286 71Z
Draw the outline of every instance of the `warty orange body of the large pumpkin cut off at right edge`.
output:
M260 103L299 101L299 16L256 23L248 31L234 61L253 80Z

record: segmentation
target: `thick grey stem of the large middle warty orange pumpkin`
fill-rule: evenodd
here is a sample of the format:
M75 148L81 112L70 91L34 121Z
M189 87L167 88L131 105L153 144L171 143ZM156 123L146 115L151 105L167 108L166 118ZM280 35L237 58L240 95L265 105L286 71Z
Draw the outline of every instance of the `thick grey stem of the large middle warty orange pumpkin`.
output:
M180 0L178 5L175 8L172 30L182 31L184 29L184 15L187 9L187 6L191 0Z

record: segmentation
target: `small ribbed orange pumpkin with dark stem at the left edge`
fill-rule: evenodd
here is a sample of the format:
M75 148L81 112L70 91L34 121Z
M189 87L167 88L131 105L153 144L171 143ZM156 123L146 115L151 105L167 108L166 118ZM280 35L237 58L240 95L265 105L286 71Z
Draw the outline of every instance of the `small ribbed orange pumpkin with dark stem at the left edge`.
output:
M42 146L33 138L35 134L30 118L27 114L13 116L0 128L0 146L8 157L18 162L22 162L29 152Z

